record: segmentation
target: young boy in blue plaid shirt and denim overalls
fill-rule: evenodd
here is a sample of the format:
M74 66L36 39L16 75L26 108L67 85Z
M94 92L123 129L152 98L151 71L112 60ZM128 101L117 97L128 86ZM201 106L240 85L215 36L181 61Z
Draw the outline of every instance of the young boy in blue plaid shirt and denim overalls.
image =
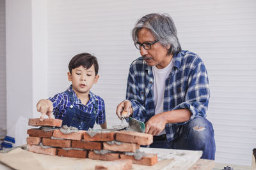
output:
M38 112L63 120L62 125L88 130L95 122L102 129L107 128L104 100L90 92L99 79L97 58L90 53L79 53L68 64L68 81L72 85L65 92L56 94L36 104Z

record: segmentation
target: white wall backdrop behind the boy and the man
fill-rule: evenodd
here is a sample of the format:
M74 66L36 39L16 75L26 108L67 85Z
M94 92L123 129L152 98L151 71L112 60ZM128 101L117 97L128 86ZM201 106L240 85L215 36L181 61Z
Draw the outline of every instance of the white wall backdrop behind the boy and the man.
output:
M12 58L6 59L6 78L11 85L7 88L7 126L15 122L12 119L15 119L15 114L19 115L19 111L31 118L33 114L28 113L35 111L34 105L42 93L47 92L43 97L49 97L67 89L68 61L81 52L93 53L98 58L100 79L92 91L106 102L108 127L120 124L115 115L116 105L125 97L129 64L140 57L131 39L131 29L143 15L169 13L177 26L182 49L198 53L209 73L211 99L207 118L215 130L216 162L250 166L252 149L256 148L256 1L49 0L45 8L46 18L44 10L40 13L43 17L38 17L40 5L35 4L36 1L12 0L6 3L9 11L6 15L6 30L9 32L6 36L9 42L6 55L21 62L12 65ZM31 6L26 6L26 3ZM28 13L14 15L20 9ZM22 31L19 25L24 23L19 22L20 17L26 26L22 27L26 28ZM30 17L32 20L26 22ZM9 22L15 19L14 24ZM13 25L19 29L14 29ZM15 31L20 31L21 39L16 37L17 34L12 36ZM44 37L47 38L45 43ZM28 43L24 44L22 38ZM17 47L14 50L13 43ZM29 43L32 52L28 48ZM47 47L44 49L45 44ZM38 50L39 47L42 51ZM22 48L26 48L25 52ZM41 61L44 53L47 57ZM25 61L28 64L22 67ZM37 67L40 65L38 62L42 62L40 67L43 69ZM21 68L17 69L20 65ZM20 70L20 73L13 74L12 68ZM19 80L23 71L29 73L29 77L25 77L28 85L20 83L23 80L18 81L18 87L28 91L33 87L33 90L27 93L26 100L19 101L21 108L15 108L12 101L15 97L19 98L12 94L17 87L15 78ZM46 78L44 74L47 74ZM42 89L39 81L42 81ZM47 88L44 88L44 83ZM20 91L26 94L26 91ZM27 105L24 105L25 102Z

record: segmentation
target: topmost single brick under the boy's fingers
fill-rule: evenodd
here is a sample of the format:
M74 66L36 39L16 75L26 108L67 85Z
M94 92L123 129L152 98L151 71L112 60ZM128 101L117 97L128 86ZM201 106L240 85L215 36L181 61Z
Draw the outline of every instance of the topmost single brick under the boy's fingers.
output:
M40 118L29 118L28 125L32 126L52 126L52 127L61 127L62 120L56 118L44 118L40 120Z

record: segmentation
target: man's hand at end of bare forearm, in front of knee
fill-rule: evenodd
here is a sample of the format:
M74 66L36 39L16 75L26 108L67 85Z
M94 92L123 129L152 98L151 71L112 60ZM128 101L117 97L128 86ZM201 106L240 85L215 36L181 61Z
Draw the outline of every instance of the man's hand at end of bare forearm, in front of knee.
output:
M154 117L151 117L145 124L145 133L155 136L163 131L165 124L166 119L164 118L164 113L154 115Z

